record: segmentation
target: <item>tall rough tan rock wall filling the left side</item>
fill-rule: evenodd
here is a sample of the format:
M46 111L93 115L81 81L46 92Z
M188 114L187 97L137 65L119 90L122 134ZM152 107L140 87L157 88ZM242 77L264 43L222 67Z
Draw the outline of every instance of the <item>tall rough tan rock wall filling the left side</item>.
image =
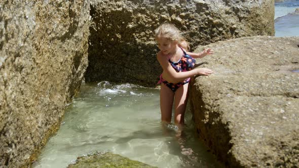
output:
M90 2L0 2L0 167L30 164L88 66Z

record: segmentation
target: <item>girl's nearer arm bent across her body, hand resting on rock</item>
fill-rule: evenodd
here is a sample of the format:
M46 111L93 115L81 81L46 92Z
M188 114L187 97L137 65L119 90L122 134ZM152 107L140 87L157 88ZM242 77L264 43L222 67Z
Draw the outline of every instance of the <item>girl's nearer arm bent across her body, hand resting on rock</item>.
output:
M213 73L213 71L208 68L197 68L186 72L176 72L175 69L168 62L167 57L164 56L161 52L158 53L157 59L163 68L163 78L171 83L183 81L184 79L197 74L208 75Z

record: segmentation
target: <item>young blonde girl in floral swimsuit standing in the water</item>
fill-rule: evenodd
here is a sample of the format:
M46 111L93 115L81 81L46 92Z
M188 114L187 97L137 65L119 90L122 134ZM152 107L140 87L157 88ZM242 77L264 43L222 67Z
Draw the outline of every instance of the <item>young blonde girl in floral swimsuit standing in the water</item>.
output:
M209 75L213 73L208 68L193 69L194 58L203 58L213 54L211 49L201 53L186 52L180 31L170 23L163 23L155 30L155 38L160 49L157 59L163 68L160 75L162 83L160 90L160 108L162 122L171 122L172 105L174 101L174 123L184 124L184 113L188 100L188 85L194 75ZM185 44L188 45L188 43Z

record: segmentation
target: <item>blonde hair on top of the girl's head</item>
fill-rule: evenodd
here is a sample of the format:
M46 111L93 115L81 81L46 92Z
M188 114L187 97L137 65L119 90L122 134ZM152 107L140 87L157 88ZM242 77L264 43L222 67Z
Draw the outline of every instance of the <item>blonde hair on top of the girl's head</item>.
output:
M163 36L171 41L178 41L180 43L183 40L182 35L178 28L171 23L163 23L154 31L155 38Z

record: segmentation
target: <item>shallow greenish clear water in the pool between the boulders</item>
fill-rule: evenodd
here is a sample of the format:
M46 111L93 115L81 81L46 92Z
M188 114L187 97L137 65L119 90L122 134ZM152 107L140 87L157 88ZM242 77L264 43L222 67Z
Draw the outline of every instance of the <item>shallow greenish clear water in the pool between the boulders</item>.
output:
M159 90L109 82L82 83L65 111L62 125L32 167L66 167L78 156L111 151L158 167L219 167L194 128L160 123Z

